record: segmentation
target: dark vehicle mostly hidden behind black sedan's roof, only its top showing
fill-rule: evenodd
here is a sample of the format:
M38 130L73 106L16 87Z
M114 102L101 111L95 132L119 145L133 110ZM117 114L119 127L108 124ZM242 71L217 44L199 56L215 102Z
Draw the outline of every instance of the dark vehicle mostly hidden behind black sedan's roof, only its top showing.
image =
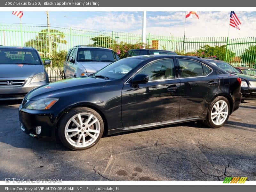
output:
M131 49L125 53L124 58L138 55L177 55L177 53L158 49Z

